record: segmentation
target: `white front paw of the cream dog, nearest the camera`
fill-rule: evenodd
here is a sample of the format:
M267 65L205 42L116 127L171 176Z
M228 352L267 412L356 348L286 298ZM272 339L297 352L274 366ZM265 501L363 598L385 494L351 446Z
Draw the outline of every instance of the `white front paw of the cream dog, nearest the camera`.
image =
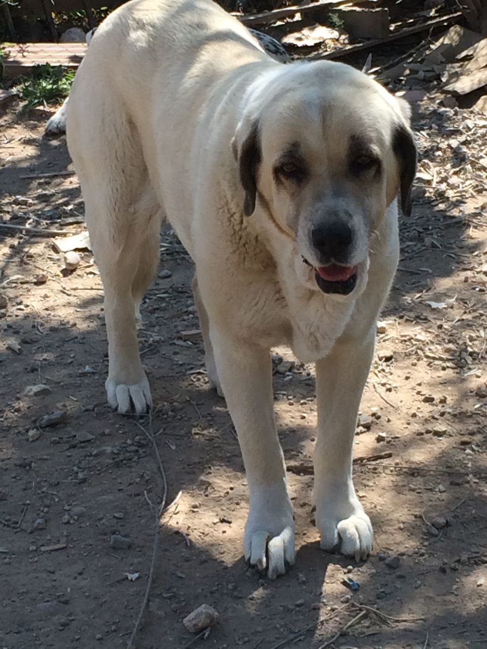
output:
M251 507L243 543L245 559L258 570L267 570L269 579L284 574L286 566L294 565L294 521L287 496L279 508L269 503L266 507Z

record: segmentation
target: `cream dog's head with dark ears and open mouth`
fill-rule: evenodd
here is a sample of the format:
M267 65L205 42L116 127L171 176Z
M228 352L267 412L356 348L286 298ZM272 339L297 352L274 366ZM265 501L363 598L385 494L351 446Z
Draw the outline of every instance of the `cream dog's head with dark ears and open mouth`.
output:
M233 141L243 212L258 206L295 241L307 284L356 295L371 234L398 194L410 214L409 118L403 100L343 64L282 67L250 88Z

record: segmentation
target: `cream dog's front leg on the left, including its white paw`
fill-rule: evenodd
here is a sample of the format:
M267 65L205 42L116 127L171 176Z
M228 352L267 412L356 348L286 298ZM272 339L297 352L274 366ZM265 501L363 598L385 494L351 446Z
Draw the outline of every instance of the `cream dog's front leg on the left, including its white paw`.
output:
M273 413L269 350L211 330L218 376L227 400L249 486L245 558L275 578L294 563L294 522Z

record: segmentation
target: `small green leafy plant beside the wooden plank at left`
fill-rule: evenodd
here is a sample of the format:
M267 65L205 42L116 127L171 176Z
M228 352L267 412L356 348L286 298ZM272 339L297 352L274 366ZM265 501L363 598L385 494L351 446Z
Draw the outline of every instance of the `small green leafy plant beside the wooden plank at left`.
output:
M19 79L23 110L30 110L41 104L56 104L69 95L75 71L49 63L32 67L30 75Z

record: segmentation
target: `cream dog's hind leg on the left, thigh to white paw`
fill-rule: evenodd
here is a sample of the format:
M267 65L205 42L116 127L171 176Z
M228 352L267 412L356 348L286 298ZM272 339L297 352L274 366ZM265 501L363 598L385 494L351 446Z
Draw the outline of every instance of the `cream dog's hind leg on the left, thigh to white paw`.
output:
M86 133L86 113L79 114L75 103L69 112L68 143L105 291L106 393L120 413L144 413L152 400L138 349L136 310L157 263L159 208L138 133L123 107L110 97L103 104L96 96L91 101L97 114L92 130ZM107 124L115 124L116 130L105 128Z

